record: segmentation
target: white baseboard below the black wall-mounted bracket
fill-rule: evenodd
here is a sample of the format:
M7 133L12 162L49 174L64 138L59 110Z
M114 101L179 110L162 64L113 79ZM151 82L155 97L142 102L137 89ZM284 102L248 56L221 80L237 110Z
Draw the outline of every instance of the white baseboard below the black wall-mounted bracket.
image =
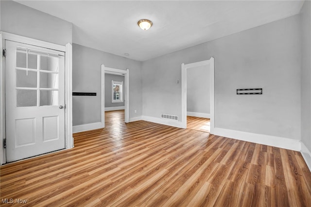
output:
M294 151L301 150L300 140L281 138L270 135L261 135L249 132L235 131L231 129L214 128L214 135L226 138L234 138L243 141L255 142L258 144L265 144L273 147L279 147Z

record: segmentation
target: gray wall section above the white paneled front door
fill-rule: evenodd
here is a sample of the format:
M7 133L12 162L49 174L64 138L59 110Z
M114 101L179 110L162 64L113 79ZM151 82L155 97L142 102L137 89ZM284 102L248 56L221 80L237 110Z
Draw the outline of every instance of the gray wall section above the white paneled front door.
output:
M72 42L72 23L12 0L0 4L1 31L59 45Z

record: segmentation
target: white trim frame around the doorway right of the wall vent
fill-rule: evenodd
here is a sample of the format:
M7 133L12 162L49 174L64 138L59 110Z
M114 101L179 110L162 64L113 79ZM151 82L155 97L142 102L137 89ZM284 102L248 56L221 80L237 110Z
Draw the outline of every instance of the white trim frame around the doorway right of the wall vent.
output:
M192 69L199 66L209 65L210 72L210 134L214 133L215 128L215 85L214 85L214 58L211 57L209 60L181 64L181 122L182 128L187 128L187 69Z

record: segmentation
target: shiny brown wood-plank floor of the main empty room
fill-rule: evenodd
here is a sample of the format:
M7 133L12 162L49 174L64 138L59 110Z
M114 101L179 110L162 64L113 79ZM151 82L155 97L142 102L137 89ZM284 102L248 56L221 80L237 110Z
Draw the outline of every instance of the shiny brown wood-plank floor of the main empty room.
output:
M120 120L106 112L106 127L74 134L73 149L1 166L1 206L311 206L299 152Z

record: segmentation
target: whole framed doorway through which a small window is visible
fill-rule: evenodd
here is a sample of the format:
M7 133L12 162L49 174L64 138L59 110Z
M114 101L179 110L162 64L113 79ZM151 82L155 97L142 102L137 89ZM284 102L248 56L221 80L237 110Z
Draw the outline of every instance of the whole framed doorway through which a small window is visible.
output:
M105 112L121 110L120 118L129 122L129 69L113 69L102 65L102 125L105 126Z

